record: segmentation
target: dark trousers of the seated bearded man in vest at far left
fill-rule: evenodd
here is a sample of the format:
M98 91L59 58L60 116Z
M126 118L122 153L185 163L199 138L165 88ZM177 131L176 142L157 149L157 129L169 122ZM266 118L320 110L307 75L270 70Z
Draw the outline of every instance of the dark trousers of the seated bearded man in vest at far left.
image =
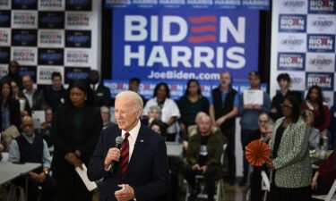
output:
M28 176L29 177L29 176ZM26 187L26 177L20 177L13 181L14 184L21 186L23 189ZM28 201L37 201L39 197L39 186L42 188L40 201L55 201L56 200L56 181L47 176L46 180L39 183L36 180L28 178Z

